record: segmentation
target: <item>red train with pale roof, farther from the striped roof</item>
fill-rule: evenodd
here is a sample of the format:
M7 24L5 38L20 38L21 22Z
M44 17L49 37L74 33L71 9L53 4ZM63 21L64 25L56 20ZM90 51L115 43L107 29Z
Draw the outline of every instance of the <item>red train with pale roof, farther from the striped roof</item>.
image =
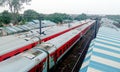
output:
M77 24L76 26L72 26L70 28L68 28L67 26L55 26L52 28L50 27L51 29L49 29L48 31L44 31L44 33L46 33L45 35L35 34L38 36L33 35L32 37L26 37L26 35L15 37L11 35L7 37L2 37L0 38L0 62L35 47L41 41L46 42L66 32L81 27L82 25L87 24L89 21L91 20L86 20L83 23Z

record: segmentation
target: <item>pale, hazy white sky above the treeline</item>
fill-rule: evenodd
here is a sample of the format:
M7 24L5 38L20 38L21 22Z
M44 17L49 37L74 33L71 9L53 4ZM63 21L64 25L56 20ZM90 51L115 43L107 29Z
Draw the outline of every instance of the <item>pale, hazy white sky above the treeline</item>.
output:
M33 9L39 13L120 14L120 0L32 0L21 11ZM4 7L0 7L0 12Z

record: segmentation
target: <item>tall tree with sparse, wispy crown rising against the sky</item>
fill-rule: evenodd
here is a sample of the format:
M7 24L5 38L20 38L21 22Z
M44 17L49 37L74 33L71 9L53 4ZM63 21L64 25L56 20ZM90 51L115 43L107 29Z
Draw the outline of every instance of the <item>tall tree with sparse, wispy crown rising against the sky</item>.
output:
M11 11L13 23L17 23L17 15L21 9L23 9L23 4L28 4L31 0L0 0L0 6L8 6Z

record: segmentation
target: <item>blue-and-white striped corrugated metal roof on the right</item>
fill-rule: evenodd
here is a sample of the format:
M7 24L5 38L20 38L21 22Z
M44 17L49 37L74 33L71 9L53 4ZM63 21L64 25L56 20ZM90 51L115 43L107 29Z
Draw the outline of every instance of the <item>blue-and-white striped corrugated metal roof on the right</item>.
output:
M79 72L120 72L120 31L101 27Z

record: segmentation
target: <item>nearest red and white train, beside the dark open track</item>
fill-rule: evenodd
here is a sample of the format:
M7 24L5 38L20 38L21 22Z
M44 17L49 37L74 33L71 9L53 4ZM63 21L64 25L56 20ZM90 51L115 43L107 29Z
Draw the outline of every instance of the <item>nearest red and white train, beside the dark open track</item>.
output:
M95 22L95 20L92 20L2 61L0 72L48 72L95 25Z

